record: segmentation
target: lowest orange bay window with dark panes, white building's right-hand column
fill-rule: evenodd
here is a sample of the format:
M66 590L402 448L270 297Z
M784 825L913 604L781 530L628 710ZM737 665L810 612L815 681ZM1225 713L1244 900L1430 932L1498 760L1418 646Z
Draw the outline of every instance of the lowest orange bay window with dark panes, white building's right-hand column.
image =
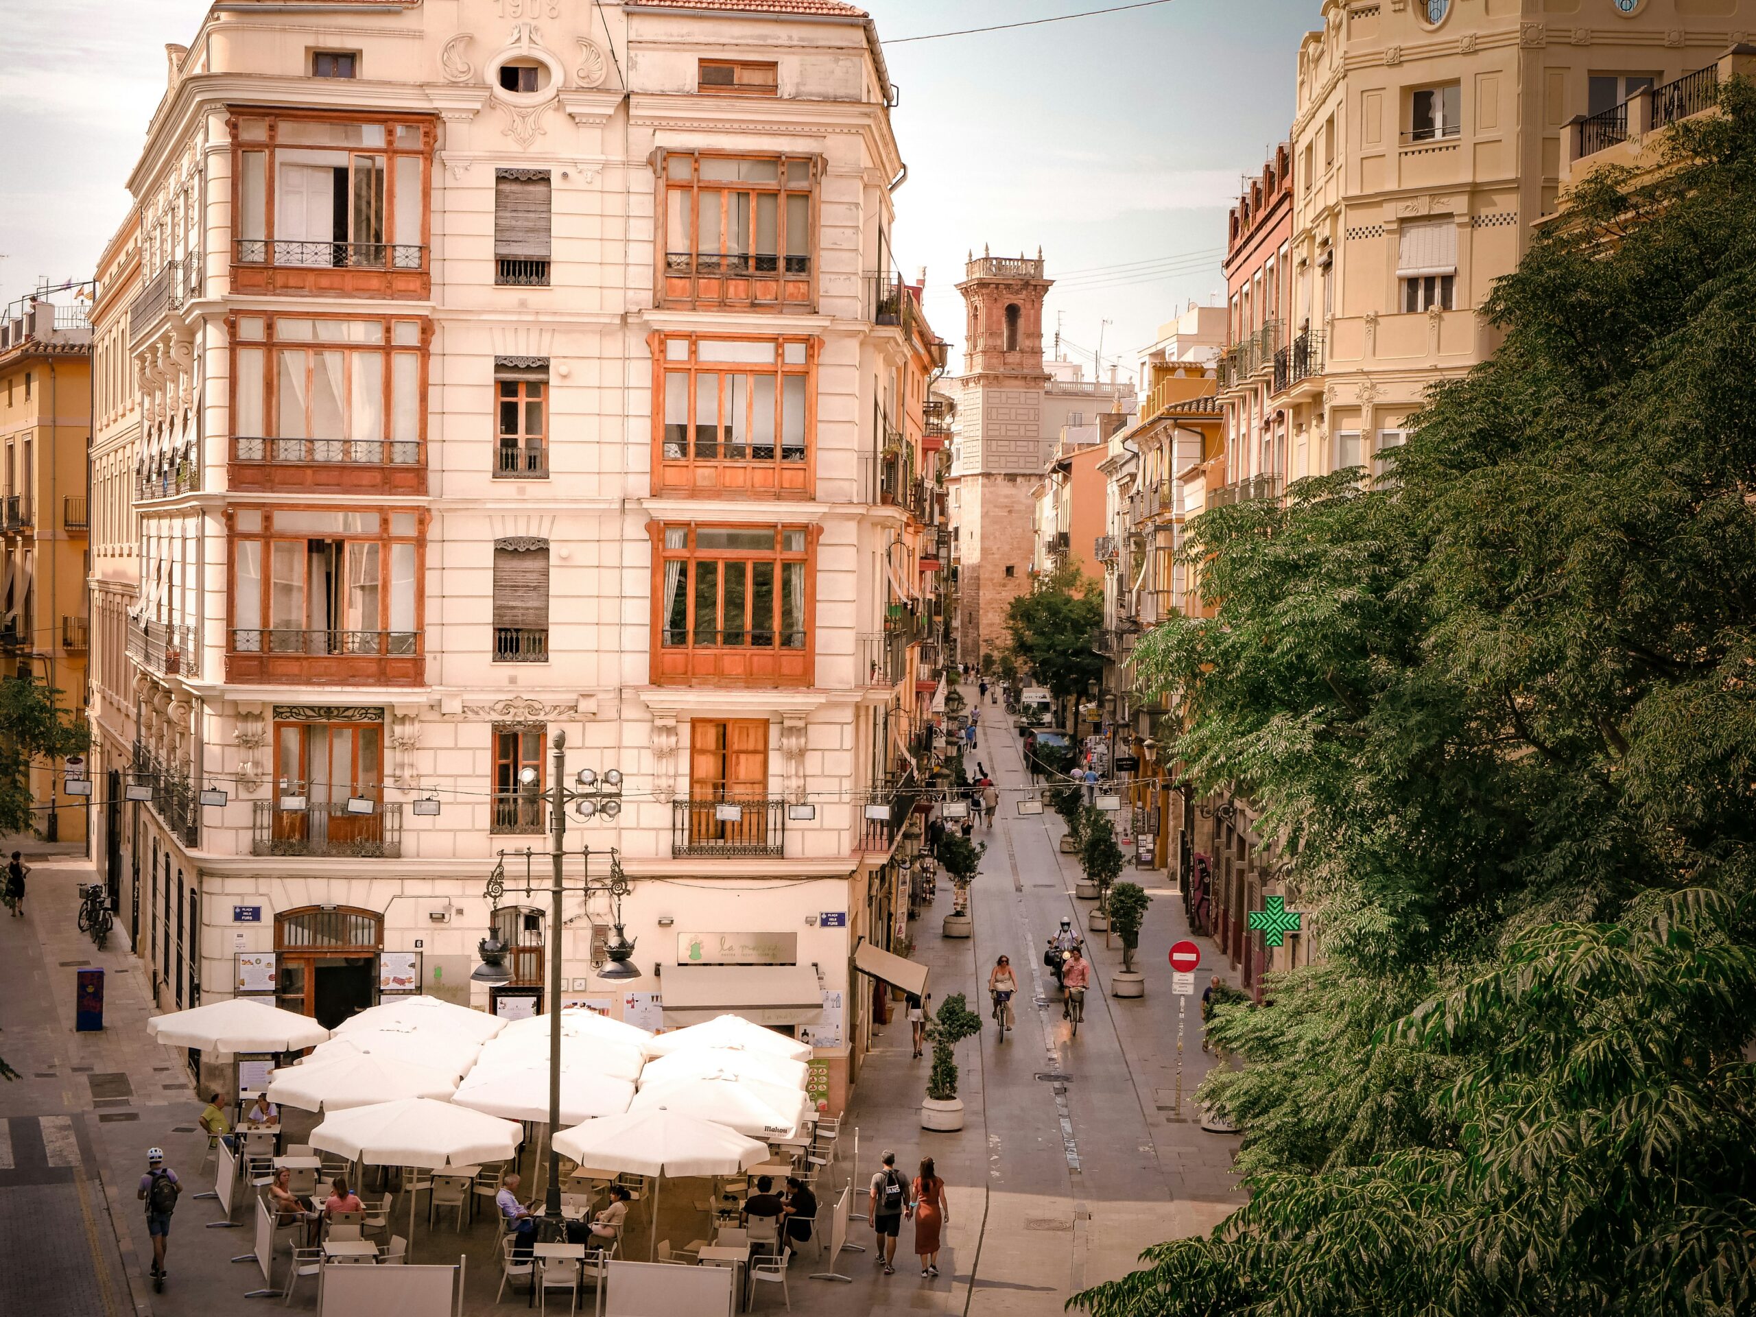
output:
M810 534L802 527L662 527L658 676L808 678Z

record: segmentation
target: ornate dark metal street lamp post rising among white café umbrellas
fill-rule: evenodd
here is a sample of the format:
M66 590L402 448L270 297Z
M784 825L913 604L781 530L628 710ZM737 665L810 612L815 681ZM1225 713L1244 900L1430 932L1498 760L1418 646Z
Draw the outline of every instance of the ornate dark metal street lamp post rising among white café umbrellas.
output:
M565 860L567 860L567 806L579 817L581 822L592 818L615 818L622 813L622 771L604 769L602 774L592 769L579 769L574 785L569 787L567 776L567 734L555 732L555 743L551 750L550 766L550 788L543 792L543 799L548 801L550 811L550 897L553 906L551 924L555 931L555 946L548 957L548 1011L550 1011L550 1150L548 1150L548 1184L543 1194L543 1220L555 1231L562 1229L560 1215L560 1154L555 1150L555 1131L560 1127L560 961L562 961L562 896L565 892L581 892L590 897L592 892L604 892L615 904L615 913L611 922L615 924L616 936L604 948L609 964L597 971L599 978L609 980L630 980L639 978L641 971L634 966L634 943L629 941L627 934L622 931L622 897L630 890L627 876L622 873L622 855L611 846L608 850L599 850L597 853L609 855L609 873L601 876L592 876L592 848L581 846L574 852L585 871L583 880L574 883L565 882ZM523 769L520 773L520 785L525 788L534 788L537 774L534 767ZM532 792L534 794L534 792ZM516 853L516 852L515 852ZM525 850L523 855L529 859L537 852ZM506 892L506 852L500 852L499 862L493 866L493 873L488 874L488 885L485 896L497 908L500 904L500 896ZM511 980L511 973L506 968L507 946L500 941L490 924L488 936L478 945L481 952L481 966L471 975L478 983L506 983Z

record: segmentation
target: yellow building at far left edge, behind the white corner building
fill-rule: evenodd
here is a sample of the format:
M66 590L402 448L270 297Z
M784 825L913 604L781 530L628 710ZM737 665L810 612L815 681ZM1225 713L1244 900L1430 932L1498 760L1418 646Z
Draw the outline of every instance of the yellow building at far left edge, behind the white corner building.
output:
M56 706L86 699L86 443L91 323L84 284L21 297L0 316L0 673L30 673ZM32 767L37 831L83 841L86 799L61 764Z

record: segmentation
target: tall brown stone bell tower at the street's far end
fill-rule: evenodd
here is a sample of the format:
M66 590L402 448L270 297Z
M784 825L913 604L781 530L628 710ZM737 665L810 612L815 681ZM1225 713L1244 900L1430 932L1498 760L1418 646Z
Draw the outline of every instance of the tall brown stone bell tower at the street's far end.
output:
M1031 588L1031 486L1052 435L1043 414L1043 255L971 256L957 291L968 307L957 492L957 651L964 662L1006 641L1006 608Z

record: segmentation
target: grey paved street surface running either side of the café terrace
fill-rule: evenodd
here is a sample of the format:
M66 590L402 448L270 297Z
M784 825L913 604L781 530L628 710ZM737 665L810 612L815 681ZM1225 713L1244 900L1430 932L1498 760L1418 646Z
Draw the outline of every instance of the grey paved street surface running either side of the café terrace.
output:
M992 836L976 831L989 850L975 887L975 938L939 936L950 910L950 887L941 883L938 903L917 925L917 955L932 966L936 999L966 992L985 1017L980 982L1008 954L1024 989L1018 1029L1001 1043L989 1022L980 1041L962 1045L966 1129L927 1134L917 1106L929 1059L910 1057L908 1026L897 1011L862 1075L831 1180L841 1185L852 1177L864 1185L885 1147L896 1148L910 1173L922 1155L936 1157L952 1206L943 1275L918 1277L906 1226L894 1277L882 1277L867 1250L839 1259L852 1284L811 1280L822 1266L806 1250L790 1282L794 1308L806 1313L852 1305L876 1313L1048 1317L1069 1292L1127 1270L1143 1247L1206 1231L1240 1201L1229 1173L1236 1140L1203 1133L1191 1119L1189 1094L1208 1064L1196 999L1185 1033L1184 1108L1171 1110L1177 997L1164 954L1187 936L1175 892L1162 874L1129 871L1155 897L1138 955L1147 996L1117 1001L1101 990L1120 966L1120 945L1106 950L1098 934L1098 982L1085 1026L1071 1038L1059 997L1043 987L1040 948L1064 915L1083 931L1090 903L1073 897L1076 864L1055 850L1061 820L1050 811L1017 815L1027 785L1018 745L997 725L997 709L985 713L990 722L969 767L980 760L994 773L1004 806ZM0 918L0 1055L21 1075L0 1085L0 1294L37 1317L235 1313L262 1278L253 1263L230 1263L249 1249L246 1229L205 1229L220 1219L212 1201L184 1196L170 1285L163 1294L144 1285L149 1247L132 1192L144 1148L163 1147L193 1191L211 1187L212 1169L202 1166L198 1105L186 1071L174 1052L146 1038L139 962L119 941L97 954L74 927L74 883L84 873L84 862L72 857L37 859L28 918ZM1217 964L1210 945L1205 952ZM86 962L109 969L102 1034L72 1031L74 969ZM630 1238L643 1236L636 1213ZM860 1222L850 1238L871 1241ZM416 1261L467 1256L471 1312L493 1308L499 1271L490 1247L485 1227L462 1236L416 1227ZM309 1310L314 1299L304 1282L291 1306ZM759 1305L778 1305L778 1296L764 1292Z

